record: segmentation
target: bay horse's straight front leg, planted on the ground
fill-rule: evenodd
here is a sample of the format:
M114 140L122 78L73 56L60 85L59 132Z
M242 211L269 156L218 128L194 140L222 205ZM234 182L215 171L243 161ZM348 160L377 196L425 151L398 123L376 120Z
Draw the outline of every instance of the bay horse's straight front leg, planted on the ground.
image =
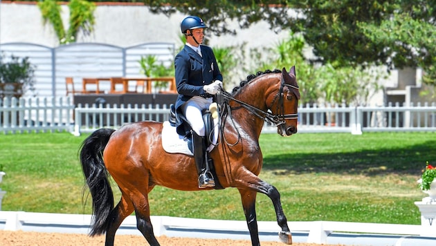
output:
M242 207L250 231L251 245L260 245L259 231L257 230L257 217L256 217L256 195L257 191L238 189L241 194Z

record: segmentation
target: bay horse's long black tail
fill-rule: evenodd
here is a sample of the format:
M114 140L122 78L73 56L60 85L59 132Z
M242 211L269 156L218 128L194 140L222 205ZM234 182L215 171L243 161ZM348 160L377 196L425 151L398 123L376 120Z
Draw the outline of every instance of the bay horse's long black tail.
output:
M107 231L109 214L113 209L113 193L102 154L114 131L98 129L80 146L82 171L92 196L93 216L89 236L104 234Z

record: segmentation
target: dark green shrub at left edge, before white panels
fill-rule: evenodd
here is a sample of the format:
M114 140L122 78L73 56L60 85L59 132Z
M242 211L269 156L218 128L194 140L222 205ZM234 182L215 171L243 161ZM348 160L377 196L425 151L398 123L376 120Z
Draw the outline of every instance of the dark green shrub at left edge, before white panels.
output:
M14 55L0 59L0 99L3 97L21 97L27 90L35 88L35 66L28 57L19 58Z

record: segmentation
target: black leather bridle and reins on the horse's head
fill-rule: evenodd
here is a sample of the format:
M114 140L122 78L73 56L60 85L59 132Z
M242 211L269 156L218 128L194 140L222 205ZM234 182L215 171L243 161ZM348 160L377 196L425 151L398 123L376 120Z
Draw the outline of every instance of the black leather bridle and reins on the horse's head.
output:
M246 110L250 111L251 113L253 113L253 115L256 115L257 117L260 117L262 120L264 120L268 124L271 124L272 126L280 126L280 125L286 123L285 120L298 119L297 113L291 113L288 115L284 114L284 95L283 95L284 86L289 86L291 88L299 90L298 86L293 86L291 84L285 84L284 80L282 79L282 81L280 83L280 89L279 89L277 95L275 95L273 102L271 103L271 105L272 105L272 104L274 104L275 100L279 99L277 109L278 109L278 112L280 112L280 113L278 115L274 115L273 113L270 113L269 111L262 111L262 109L256 108L255 106L251 106L250 104L247 104L246 102L242 102L240 100L237 100L237 99L235 99L235 97L233 97L233 95L230 95L230 93L224 91L222 88L221 88L221 95L226 97L228 100L233 100L233 101L241 104L241 106L246 108ZM230 112L230 108L228 108L228 112Z

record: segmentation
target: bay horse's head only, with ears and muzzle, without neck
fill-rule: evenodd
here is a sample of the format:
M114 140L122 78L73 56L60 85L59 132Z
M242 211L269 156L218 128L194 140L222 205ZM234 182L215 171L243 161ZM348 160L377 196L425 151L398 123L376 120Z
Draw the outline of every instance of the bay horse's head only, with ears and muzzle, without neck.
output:
M282 136L290 136L297 133L298 100L300 91L296 79L296 68L293 66L289 73L282 69L282 78L278 85L278 93L272 97L271 102L266 102L271 113L275 115L277 133Z

